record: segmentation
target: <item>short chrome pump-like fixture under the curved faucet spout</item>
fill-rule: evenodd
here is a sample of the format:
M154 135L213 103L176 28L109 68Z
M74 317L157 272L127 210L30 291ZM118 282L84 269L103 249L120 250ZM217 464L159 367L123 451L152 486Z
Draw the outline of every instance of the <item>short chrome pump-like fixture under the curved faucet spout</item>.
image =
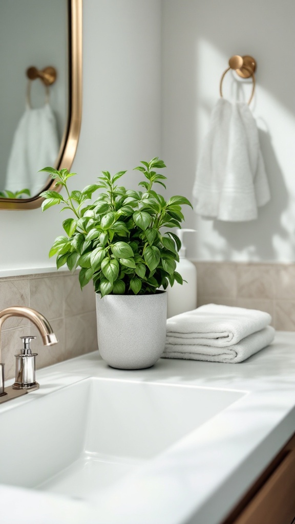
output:
M21 336L24 347L19 355L15 355L15 383L13 389L36 389L39 386L35 378L36 362L35 357L38 353L32 353L30 341L35 340L35 336Z

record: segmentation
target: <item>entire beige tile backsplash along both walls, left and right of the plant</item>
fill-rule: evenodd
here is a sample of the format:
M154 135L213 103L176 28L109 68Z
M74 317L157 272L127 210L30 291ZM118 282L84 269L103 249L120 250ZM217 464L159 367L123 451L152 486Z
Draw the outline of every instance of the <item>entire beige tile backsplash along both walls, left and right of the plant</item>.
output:
M277 330L295 331L295 264L195 262L197 304L237 305L272 316ZM92 283L80 290L77 273L54 272L0 279L0 310L26 305L43 313L59 343L46 347L34 325L10 318L2 329L2 360L6 378L14 377L19 337L36 335L31 347L37 368L97 350L96 303Z

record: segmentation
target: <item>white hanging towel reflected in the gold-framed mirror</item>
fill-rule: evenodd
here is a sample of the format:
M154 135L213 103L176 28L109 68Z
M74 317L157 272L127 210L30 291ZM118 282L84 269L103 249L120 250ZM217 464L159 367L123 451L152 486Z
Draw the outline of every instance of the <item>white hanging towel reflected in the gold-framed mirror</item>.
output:
M14 134L5 189L15 192L28 188L31 196L38 194L48 178L38 171L54 165L58 151L56 119L50 105L27 107Z

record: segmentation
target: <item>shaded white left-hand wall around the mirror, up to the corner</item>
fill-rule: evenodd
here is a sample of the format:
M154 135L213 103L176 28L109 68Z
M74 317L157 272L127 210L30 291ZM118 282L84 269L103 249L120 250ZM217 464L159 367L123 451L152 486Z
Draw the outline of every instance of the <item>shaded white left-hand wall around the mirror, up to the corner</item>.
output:
M83 114L72 189L100 171L131 169L161 150L161 4L84 0ZM136 185L138 171L127 174ZM124 179L122 179L123 184ZM0 276L54 267L48 251L66 215L0 211Z

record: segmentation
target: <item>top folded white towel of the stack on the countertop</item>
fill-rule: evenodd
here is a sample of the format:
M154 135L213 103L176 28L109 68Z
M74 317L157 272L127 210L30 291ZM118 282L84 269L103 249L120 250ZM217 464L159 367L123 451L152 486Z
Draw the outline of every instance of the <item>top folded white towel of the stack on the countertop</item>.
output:
M271 316L255 309L206 304L167 320L167 344L227 347L260 331Z

